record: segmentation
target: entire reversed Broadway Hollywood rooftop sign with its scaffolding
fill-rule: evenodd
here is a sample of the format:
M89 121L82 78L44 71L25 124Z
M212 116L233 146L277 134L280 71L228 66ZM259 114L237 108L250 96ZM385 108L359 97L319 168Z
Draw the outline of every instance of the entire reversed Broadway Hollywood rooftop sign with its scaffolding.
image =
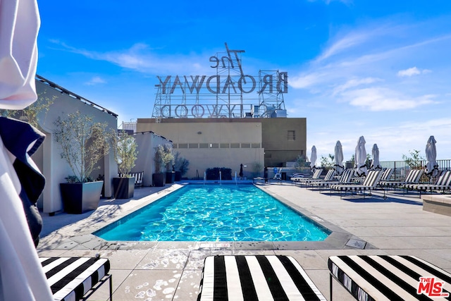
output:
M240 59L244 52L228 49L226 43L226 55L217 54L209 58L216 75L157 76L159 83L155 86L158 92L152 117L245 117L245 106L254 115L261 115L260 106L268 109L265 94L272 94L269 98L273 99L288 92L288 73L260 71L258 77L247 75ZM280 102L273 109L280 109Z

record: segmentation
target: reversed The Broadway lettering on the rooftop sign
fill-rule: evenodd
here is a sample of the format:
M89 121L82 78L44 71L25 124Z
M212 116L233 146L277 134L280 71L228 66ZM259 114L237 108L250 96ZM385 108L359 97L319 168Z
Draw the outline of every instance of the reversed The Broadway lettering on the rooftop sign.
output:
M180 80L180 77L178 75L175 75L175 78L171 84L171 75L166 76L164 80L162 80L159 76L157 78L159 79L159 84L156 85L156 87L161 87L162 94L168 93L168 88L171 87L171 90L169 91L169 94L173 94L175 92L175 89L177 87L180 87L180 90L183 94L187 93L187 90L189 90L190 94L192 94L194 91L199 94L199 92L202 90L202 87L205 82L206 90L213 94L226 94L230 93L231 90L233 90L233 93L251 93L254 92L254 90L257 87L257 81L252 75L244 75L242 72L241 67L241 61L238 58L238 53L245 52L244 50L231 50L228 49L227 43L226 43L226 49L228 56L223 56L221 59L219 59L217 56L211 56L209 61L211 63L214 63L211 68L227 68L227 64L230 64L229 68L235 68L235 63L237 65L237 68L240 69L240 76L234 76L234 75L227 75L226 80L224 81L224 76L221 77L221 75L211 75L209 78L206 77L206 75L190 75L190 78L187 78L186 75L183 76L185 79L184 81ZM233 59L232 54L235 56L235 59ZM235 62L235 63L234 63ZM237 80L235 80L238 78ZM222 79L222 81L221 81ZM223 86L221 89L221 82L223 82ZM274 85L276 84L276 85ZM261 78L260 82L261 89L258 91L258 93L262 92L269 92L274 93L276 90L277 93L287 93L288 92L288 73L287 72L280 72L278 73L277 78L274 78L271 74L266 74ZM185 87L187 87L187 90L185 90Z

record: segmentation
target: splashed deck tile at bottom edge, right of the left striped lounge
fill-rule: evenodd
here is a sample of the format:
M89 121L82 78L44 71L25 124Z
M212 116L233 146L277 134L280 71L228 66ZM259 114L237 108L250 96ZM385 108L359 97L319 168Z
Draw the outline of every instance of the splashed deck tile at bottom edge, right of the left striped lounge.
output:
M116 289L113 300L173 300L183 271L134 270Z

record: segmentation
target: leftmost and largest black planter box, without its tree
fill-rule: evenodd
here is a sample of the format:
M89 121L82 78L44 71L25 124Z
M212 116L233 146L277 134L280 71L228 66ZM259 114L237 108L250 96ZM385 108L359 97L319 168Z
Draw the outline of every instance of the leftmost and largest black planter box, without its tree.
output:
M103 185L104 181L61 183L60 190L64 211L70 214L82 214L97 209Z

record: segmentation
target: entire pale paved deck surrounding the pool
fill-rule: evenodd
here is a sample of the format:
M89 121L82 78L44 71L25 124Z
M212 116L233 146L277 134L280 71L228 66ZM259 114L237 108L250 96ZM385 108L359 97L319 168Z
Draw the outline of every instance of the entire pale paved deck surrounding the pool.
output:
M342 197L292 185L257 183L333 231L324 242L106 242L91 233L180 188L137 188L132 199L101 199L85 214L42 214L39 256L94 256L111 261L113 300L196 300L204 258L211 254L283 254L297 259L329 300L331 255L414 255L451 272L451 216L423 210L419 195L381 190L371 197ZM351 295L334 281L334 300ZM108 300L103 285L88 300Z

